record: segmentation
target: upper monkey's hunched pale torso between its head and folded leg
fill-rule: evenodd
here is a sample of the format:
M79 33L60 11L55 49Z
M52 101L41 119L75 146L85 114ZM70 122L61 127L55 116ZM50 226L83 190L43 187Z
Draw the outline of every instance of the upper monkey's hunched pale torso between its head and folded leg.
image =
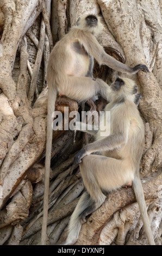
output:
M84 32L72 28L68 34L55 44L49 56L48 69L57 77L86 76L90 65L90 56L82 45Z

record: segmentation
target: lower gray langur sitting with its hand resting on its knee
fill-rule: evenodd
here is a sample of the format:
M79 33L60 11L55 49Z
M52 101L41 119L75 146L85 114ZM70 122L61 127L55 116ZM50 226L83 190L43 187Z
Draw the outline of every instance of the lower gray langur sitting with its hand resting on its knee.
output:
M71 216L64 244L72 245L77 241L82 223L86 221L85 217L103 204L106 198L104 193L133 183L149 244L154 245L139 176L145 140L144 123L136 106L140 94L137 94L137 86L133 80L117 78L110 86L109 97L111 102L105 106L103 118L105 123L105 113L110 111L109 135L101 136L103 131L98 130L95 135L96 141L85 145L74 157L74 164L80 163L86 191L80 197ZM92 134L94 132L92 131ZM91 155L97 151L102 155Z

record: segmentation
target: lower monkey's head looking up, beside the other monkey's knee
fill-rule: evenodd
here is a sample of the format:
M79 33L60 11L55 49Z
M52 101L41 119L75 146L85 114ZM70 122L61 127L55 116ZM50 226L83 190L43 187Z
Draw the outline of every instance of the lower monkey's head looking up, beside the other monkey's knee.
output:
M111 99L115 100L130 100L136 102L136 95L138 92L138 88L135 82L129 78L120 78L118 77L114 83L110 85ZM138 98L140 94L138 94Z

